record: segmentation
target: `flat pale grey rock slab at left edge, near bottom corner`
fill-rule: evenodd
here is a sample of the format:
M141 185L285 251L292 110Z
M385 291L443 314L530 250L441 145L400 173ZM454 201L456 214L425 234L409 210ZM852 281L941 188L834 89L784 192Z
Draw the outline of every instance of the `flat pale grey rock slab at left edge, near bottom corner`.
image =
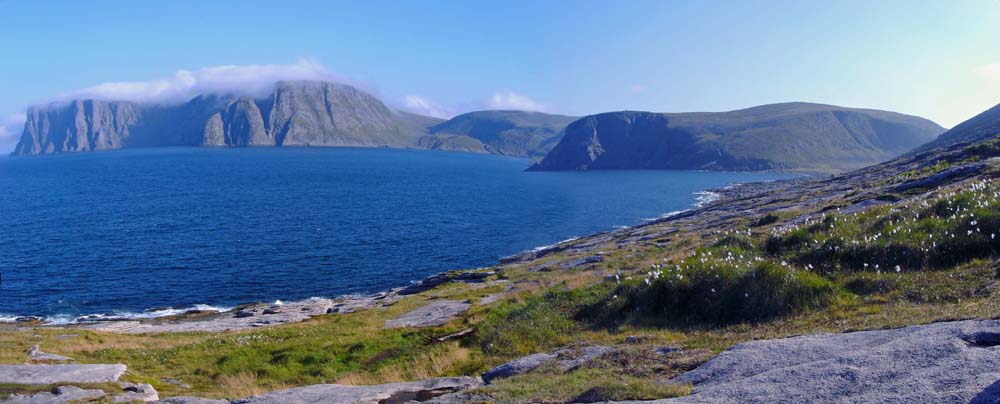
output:
M0 383L108 383L118 381L125 369L125 365L0 365Z

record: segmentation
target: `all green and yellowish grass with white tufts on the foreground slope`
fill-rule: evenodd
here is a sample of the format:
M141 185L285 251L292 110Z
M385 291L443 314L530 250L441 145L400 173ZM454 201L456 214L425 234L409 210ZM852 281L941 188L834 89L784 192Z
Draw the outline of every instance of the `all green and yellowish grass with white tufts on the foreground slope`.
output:
M579 369L543 367L479 392L518 403L637 400L688 394L690 386L670 378L748 340L1000 317L1000 187L993 183L857 213L800 214L739 218L724 232L681 231L666 245L609 249L593 268L508 268L502 277L513 282L510 291L449 284L388 308L277 327L153 335L0 330L0 363L23 363L40 344L81 363L125 363L129 381L151 383L164 397L238 398L314 383L476 375L523 355L609 345L620 349ZM442 327L383 328L429 299L477 302L496 293L505 297ZM466 337L436 341L469 327L475 332ZM640 342L625 344L628 336ZM660 346L683 350L652 353ZM0 386L0 394L23 389Z

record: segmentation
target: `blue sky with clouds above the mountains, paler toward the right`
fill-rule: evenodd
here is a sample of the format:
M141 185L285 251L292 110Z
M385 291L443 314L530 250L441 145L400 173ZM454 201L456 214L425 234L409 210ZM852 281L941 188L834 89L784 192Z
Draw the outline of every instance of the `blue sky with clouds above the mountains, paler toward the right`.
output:
M436 115L812 101L950 127L1000 103L997 0L0 0L0 10L0 151L28 105L173 102L286 77L346 81ZM115 82L126 84L101 85Z

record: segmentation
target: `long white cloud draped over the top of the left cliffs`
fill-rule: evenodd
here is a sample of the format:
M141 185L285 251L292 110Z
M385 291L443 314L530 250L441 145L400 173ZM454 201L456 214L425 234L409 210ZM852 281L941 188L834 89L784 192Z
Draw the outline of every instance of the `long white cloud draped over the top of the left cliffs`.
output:
M147 81L101 83L60 94L48 101L80 98L149 103L184 102L199 94L236 93L264 95L280 80L330 80L351 83L312 59L292 64L223 65L178 70L172 77ZM363 86L362 86L363 87Z

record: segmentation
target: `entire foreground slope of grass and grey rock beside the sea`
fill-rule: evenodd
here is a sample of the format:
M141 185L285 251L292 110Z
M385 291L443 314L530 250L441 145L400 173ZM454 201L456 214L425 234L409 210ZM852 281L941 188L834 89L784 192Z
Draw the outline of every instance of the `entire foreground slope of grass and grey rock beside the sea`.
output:
M248 402L348 388L331 383L375 385L369 402L995 398L994 135L832 178L719 190L669 218L435 277L382 303L323 302L295 321L256 305L239 323L230 312L118 331L5 326L0 363L32 361L25 352L39 345L125 364L122 381L160 397L262 395ZM237 326L188 325L223 319ZM418 380L431 381L386 384ZM56 385L0 384L0 394Z

